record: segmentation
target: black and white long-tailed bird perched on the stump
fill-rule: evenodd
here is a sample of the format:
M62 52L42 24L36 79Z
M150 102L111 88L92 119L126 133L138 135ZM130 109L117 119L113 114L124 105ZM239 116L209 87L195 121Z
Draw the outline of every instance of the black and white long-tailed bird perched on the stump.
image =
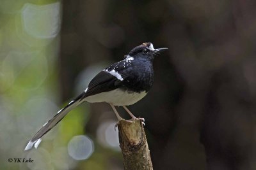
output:
M131 115L132 120L136 119L126 106L134 104L148 93L152 87L154 70L153 60L155 55L168 48L155 49L152 43L143 43L136 46L125 55L124 60L112 64L100 71L88 87L76 99L72 100L64 108L49 120L29 141L25 150L29 150L35 145L38 147L42 141L42 136L49 132L60 122L69 111L77 105L87 101L89 103L106 102L116 114L118 120L122 117L116 111L115 106L122 106Z

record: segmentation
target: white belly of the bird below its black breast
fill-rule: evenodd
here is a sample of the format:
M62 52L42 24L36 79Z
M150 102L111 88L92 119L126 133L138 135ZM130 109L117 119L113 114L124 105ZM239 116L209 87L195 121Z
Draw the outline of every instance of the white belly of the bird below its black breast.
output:
M112 103L114 106L129 106L140 101L140 99L145 97L146 94L146 92L128 93L124 90L115 89L109 92L102 92L100 94L88 96L84 101L88 101L90 103L106 102Z

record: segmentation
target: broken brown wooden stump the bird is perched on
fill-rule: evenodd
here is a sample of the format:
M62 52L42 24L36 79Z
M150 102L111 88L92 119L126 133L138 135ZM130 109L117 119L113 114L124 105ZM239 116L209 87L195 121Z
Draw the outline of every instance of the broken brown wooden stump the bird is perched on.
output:
M118 131L120 148L124 156L124 169L153 169L142 122L120 120Z

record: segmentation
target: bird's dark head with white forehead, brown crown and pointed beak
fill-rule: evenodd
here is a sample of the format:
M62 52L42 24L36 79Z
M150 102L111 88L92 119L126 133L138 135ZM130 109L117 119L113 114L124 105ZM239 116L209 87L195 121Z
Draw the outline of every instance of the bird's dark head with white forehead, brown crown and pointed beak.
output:
M143 43L142 45L136 46L129 52L131 57L143 57L146 59L153 60L154 55L159 55L164 50L168 48L157 48L155 49L152 43Z

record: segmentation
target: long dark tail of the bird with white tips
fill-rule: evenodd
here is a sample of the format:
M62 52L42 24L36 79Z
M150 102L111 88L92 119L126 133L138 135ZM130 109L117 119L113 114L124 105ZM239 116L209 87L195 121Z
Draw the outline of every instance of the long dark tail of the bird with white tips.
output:
M69 111L71 111L73 108L76 108L78 104L81 104L83 102L81 101L81 99L83 98L84 94L85 92L80 94L78 97L76 97L76 99L68 103L67 106L58 111L58 113L51 120L44 124L44 126L29 141L25 150L30 150L33 147L33 145L35 145L35 148L37 148L40 142L42 141L42 136L49 132L54 126L56 126L67 115Z

